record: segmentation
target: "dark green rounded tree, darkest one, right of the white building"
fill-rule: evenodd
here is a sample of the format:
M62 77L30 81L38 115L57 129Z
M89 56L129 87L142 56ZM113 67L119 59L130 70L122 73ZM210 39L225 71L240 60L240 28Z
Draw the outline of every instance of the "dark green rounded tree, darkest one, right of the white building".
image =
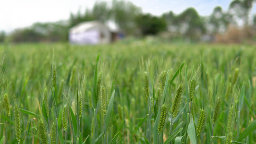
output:
M166 21L162 17L151 16L150 14L141 14L136 18L136 24L145 35L156 35L158 32L166 29Z

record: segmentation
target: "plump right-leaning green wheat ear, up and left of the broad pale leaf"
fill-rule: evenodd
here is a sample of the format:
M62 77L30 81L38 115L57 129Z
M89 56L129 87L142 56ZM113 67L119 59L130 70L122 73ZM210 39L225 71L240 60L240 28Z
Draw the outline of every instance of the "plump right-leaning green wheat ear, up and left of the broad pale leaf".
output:
M183 84L180 84L177 88L177 92L172 104L172 116L175 118L179 112L180 104L181 104L181 99L182 99L182 92L183 92Z

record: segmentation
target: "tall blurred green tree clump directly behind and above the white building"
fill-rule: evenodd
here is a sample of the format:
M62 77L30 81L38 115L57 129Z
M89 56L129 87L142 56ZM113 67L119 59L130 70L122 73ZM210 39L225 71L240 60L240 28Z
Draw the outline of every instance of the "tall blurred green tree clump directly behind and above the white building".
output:
M87 9L84 15L79 11L77 14L71 13L69 27L93 20L99 20L102 23L112 21L127 34L133 34L136 28L135 18L139 14L141 14L141 9L130 1L113 0L111 7L108 7L107 2L100 1L94 4L91 11Z

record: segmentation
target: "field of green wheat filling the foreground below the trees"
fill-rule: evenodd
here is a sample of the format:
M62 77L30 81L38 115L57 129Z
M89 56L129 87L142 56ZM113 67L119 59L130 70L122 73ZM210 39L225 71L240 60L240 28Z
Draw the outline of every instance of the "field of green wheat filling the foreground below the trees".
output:
M0 144L256 143L254 46L0 50Z

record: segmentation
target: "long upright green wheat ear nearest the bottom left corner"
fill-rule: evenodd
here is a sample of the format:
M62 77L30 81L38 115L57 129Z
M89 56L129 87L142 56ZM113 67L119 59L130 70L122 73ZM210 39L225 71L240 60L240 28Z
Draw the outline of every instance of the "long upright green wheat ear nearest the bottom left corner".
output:
M21 140L21 119L20 119L20 110L18 105L15 103L14 106L14 121L15 121L15 135L18 143Z

